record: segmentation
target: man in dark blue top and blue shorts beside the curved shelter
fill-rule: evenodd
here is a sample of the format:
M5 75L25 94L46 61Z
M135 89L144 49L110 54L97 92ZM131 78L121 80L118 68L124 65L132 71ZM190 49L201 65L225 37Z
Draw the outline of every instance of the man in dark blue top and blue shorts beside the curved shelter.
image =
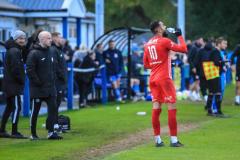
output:
M121 102L120 80L123 68L122 53L115 48L115 42L113 40L110 40L108 45L109 48L103 52L103 58L107 67L107 76L114 89L115 99Z

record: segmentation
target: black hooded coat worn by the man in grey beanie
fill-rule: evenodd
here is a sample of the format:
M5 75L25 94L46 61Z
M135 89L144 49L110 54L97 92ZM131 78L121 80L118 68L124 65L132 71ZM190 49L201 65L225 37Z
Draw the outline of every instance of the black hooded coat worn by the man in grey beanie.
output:
M6 97L21 95L25 82L23 47L12 38L5 43L5 47L7 52L4 60L3 91Z

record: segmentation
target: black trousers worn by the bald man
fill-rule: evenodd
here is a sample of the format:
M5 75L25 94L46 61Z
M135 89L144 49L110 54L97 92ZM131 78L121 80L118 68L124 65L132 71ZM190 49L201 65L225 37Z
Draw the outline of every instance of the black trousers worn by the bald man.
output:
M34 98L34 99L31 99L32 113L30 118L30 127L31 127L32 135L37 135L37 132L36 132L37 118L38 118L38 114L43 101L47 103L47 109L48 109L46 128L48 129L48 132L54 131L54 124L57 121L56 97L50 96L46 98Z

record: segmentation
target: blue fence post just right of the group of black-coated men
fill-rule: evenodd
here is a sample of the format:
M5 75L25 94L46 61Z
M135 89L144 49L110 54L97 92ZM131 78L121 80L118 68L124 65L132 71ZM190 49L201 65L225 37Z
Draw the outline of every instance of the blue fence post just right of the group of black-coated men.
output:
M73 109L73 64L68 63L68 94L67 94L68 110Z

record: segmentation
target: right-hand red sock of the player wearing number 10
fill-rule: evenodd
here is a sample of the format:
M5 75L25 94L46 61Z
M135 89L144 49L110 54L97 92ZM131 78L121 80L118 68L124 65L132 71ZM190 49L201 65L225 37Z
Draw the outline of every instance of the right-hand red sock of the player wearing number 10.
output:
M176 109L168 110L168 127L170 130L170 136L177 136L176 112Z

